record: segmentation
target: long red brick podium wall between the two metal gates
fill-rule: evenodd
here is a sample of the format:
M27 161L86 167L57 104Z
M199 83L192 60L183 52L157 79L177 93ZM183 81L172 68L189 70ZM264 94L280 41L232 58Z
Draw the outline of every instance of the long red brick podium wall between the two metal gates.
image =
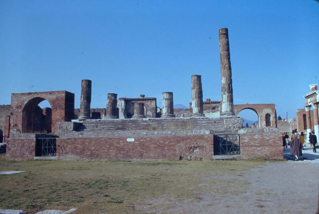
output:
M57 157L62 160L93 159L210 159L213 135L108 138L57 138Z

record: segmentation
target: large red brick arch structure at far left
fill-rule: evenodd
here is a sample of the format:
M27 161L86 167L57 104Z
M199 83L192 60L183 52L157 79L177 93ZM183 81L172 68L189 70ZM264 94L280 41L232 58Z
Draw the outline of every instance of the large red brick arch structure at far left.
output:
M30 130L30 112L40 102L47 100L52 109L52 134L57 134L58 122L71 121L74 117L74 94L67 91L29 92L11 94L11 133Z

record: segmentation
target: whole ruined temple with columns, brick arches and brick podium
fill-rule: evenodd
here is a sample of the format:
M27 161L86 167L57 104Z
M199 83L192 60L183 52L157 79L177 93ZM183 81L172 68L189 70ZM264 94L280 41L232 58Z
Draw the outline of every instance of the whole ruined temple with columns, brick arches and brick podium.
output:
M282 159L274 104L233 103L228 29L219 29L221 101L203 101L201 75L190 78L189 109L173 108L173 92L154 97L117 98L108 93L106 108L91 109L91 80L81 82L80 109L67 91L12 93L6 112L7 159ZM93 83L94 84L94 83ZM48 100L50 109L39 109ZM251 109L258 127L242 129L237 115ZM256 147L259 149L256 150Z

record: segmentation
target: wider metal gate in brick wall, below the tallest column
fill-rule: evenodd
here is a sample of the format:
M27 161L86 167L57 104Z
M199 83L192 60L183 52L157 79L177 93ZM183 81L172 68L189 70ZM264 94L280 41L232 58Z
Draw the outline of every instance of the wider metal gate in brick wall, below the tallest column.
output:
M240 155L239 134L214 134L214 155Z

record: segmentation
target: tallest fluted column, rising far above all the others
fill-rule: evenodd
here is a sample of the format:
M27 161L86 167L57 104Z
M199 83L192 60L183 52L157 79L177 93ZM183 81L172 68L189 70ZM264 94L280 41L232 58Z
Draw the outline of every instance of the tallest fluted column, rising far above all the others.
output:
M232 68L230 65L230 52L228 29L219 29L219 57L221 76L221 114L234 115Z

